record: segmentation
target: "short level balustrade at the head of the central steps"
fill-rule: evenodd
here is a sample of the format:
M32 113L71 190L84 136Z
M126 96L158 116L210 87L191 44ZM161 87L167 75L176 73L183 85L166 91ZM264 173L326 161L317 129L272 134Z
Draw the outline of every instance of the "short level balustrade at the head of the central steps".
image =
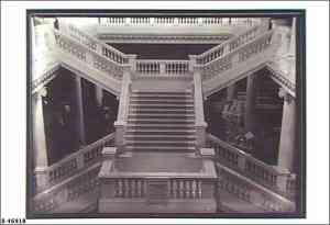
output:
M136 74L139 75L186 75L189 72L189 60L136 60Z

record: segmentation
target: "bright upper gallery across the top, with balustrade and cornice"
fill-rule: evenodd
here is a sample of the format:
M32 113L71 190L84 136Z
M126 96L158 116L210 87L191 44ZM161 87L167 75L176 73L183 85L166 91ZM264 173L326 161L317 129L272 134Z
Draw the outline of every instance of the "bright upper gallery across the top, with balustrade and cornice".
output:
M219 44L246 29L260 25L261 18L109 16L59 18L106 43Z

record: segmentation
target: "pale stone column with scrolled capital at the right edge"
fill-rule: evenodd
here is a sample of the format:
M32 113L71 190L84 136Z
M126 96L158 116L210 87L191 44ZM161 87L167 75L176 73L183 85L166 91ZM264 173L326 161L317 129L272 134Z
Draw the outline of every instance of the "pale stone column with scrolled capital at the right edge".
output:
M283 89L279 90L278 95L284 98L278 166L293 171L296 150L296 102L295 99Z

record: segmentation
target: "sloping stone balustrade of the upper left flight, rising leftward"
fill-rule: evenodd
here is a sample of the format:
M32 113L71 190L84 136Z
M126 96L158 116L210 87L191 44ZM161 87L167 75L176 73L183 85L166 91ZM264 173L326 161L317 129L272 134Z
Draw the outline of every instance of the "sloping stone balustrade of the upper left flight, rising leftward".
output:
M124 66L109 60L107 57L98 54L97 52L81 45L74 38L54 30L55 44L61 49L75 56L78 60L88 64L89 66L106 72L117 80L121 80Z

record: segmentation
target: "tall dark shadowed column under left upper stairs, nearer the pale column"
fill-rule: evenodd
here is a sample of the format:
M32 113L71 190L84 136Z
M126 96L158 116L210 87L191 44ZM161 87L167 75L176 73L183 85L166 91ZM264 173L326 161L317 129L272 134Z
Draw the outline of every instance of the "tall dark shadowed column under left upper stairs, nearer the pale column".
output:
M79 144L86 145L81 78L76 76L77 130Z

